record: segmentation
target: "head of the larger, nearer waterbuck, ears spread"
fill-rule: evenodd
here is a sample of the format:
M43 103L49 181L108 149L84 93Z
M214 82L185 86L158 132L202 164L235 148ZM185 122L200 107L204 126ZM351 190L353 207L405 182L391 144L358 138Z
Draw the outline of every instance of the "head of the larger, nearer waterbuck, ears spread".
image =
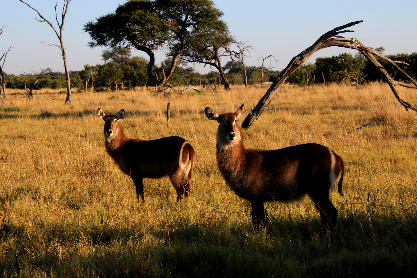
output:
M244 112L243 104L235 113L219 115L208 107L204 109L204 112L208 119L216 120L220 124L217 130L217 147L219 149L228 149L241 141L241 128L237 120Z

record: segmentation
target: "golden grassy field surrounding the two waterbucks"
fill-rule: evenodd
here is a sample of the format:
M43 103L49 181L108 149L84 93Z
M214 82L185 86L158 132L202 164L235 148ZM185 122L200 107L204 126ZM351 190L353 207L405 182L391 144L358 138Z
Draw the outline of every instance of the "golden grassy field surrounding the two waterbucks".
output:
M415 90L399 88L417 103ZM203 113L247 115L266 88L232 87L167 98L147 91L73 94L10 90L0 106L0 273L4 277L350 277L417 274L417 114L385 84L285 85L246 148L302 143L331 147L345 162L337 231L320 229L306 197L267 203L268 226L255 233L251 208L216 165L217 123ZM20 93L20 94L19 94ZM146 203L104 148L106 114L131 138L178 135L196 150L193 191L176 201L167 178L145 179ZM243 119L241 119L243 121ZM361 130L355 128L374 121Z

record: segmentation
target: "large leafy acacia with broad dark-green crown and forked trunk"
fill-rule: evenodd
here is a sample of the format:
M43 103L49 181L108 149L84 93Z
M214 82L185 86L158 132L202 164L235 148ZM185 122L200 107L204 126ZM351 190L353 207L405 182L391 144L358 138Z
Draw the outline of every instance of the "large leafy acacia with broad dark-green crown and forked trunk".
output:
M188 43L208 30L225 25L223 13L211 0L130 0L109 13L84 25L92 38L90 47L134 47L149 56L148 78L158 90L171 77L178 58ZM156 50L171 50L171 64L158 79L153 73Z

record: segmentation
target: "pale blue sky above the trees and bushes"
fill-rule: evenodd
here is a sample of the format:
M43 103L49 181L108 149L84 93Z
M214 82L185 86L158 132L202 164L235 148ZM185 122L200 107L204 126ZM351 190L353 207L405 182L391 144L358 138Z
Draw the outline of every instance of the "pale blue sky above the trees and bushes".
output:
M27 3L55 23L53 0L27 0ZM86 46L89 35L83 33L83 25L98 16L113 12L118 0L72 0L65 20L64 45L68 55L70 70L81 70L83 65L103 63L103 48L90 49ZM292 57L314 43L327 31L346 23L364 20L356 27L349 28L362 43L370 47L384 46L386 54L412 53L417 51L417 1L271 1L271 0L228 0L214 1L224 12L231 34L239 40L249 41L255 50L247 58L247 65L260 65L259 56L274 55L279 62L273 62L276 69L286 67ZM63 1L58 0L58 8ZM43 46L58 43L52 28L35 20L35 11L18 0L0 0L0 56L10 46L4 66L6 73L20 74L52 68L63 72L62 58L58 48ZM320 50L310 58L337 55L349 52L344 48ZM355 51L351 51L355 53ZM145 53L133 51L133 55L147 58ZM157 55L157 63L165 59L163 53ZM201 73L209 68L196 66Z

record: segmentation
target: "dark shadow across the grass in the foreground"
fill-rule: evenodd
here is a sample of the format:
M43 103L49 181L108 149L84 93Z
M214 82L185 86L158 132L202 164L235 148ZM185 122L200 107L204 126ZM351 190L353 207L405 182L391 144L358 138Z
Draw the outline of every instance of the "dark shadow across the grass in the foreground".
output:
M387 232L374 242L369 231L361 230L365 217L339 220L334 232L321 230L317 219L272 218L260 233L249 223L226 227L184 220L170 223L171 228L43 226L39 235L7 224L1 241L10 244L4 244L0 271L5 277L32 277L36 271L61 277L416 275L415 235L394 235L398 223L380 219ZM384 236L388 241L382 243ZM402 240L394 242L398 236Z

